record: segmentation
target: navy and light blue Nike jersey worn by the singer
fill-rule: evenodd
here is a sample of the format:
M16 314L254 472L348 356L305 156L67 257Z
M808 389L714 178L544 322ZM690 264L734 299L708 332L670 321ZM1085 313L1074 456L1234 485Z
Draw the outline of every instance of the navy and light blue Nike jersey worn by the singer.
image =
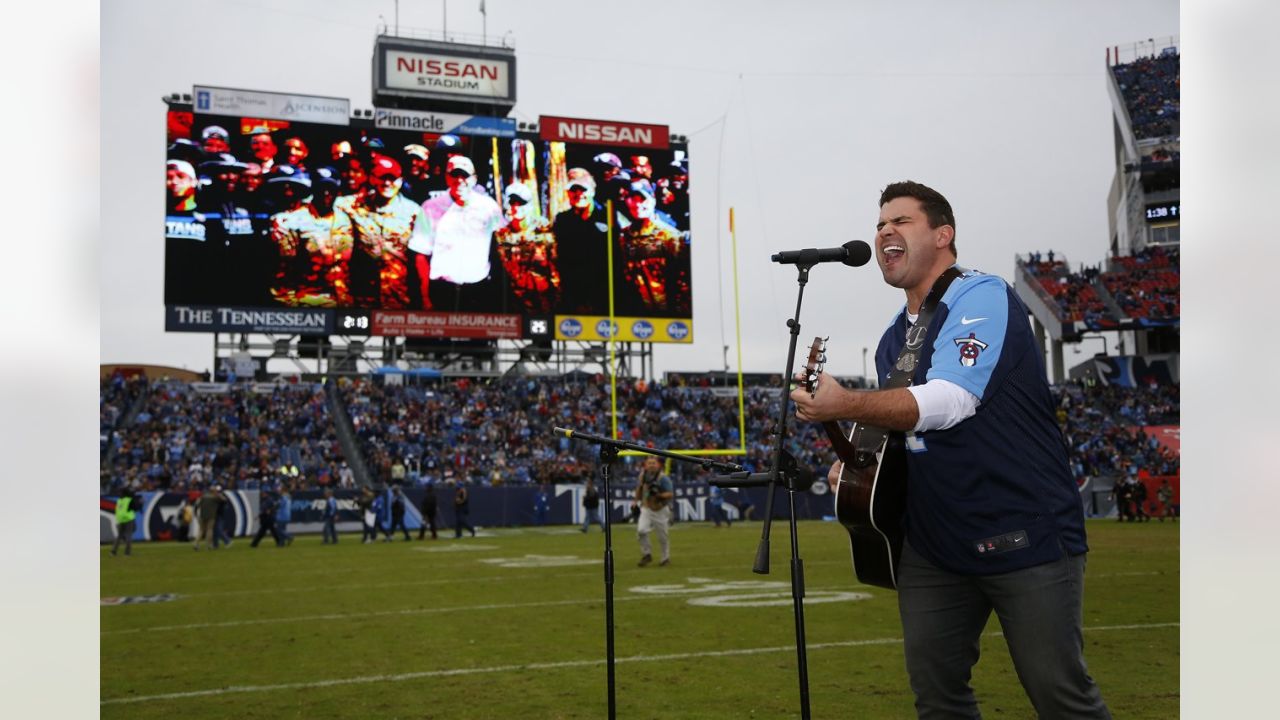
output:
M881 386L906 343L905 309L876 350ZM996 275L955 279L929 322L911 384L950 380L978 411L906 433L906 539L952 573L1007 573L1088 551L1084 511L1027 307Z

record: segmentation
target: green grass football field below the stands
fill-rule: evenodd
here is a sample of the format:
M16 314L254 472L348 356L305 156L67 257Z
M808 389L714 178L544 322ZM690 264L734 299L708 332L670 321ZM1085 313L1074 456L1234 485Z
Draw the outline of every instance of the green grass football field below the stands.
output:
M1175 717L1179 528L1088 529L1089 670L1116 717ZM893 593L858 585L840 525L801 523L799 534L813 716L914 716ZM128 559L104 548L104 597L180 597L101 609L101 716L605 716L599 528L448 536L367 546L310 536L256 550L237 541L216 552L134 544ZM800 716L787 527L774 524L769 575L751 573L759 536L759 523L677 524L672 565L636 568L635 525L614 527L620 717ZM529 556L594 564L493 562ZM724 583L745 584L714 589ZM837 592L870 597L819 602ZM778 605L689 602L758 593ZM984 716L1033 717L998 623L987 632L974 670Z

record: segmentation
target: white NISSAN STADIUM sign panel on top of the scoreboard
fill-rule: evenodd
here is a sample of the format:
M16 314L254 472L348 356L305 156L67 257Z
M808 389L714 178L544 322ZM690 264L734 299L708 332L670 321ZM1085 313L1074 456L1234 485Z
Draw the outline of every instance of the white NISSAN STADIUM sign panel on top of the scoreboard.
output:
M383 90L457 99L515 100L511 60L397 47L379 50Z

